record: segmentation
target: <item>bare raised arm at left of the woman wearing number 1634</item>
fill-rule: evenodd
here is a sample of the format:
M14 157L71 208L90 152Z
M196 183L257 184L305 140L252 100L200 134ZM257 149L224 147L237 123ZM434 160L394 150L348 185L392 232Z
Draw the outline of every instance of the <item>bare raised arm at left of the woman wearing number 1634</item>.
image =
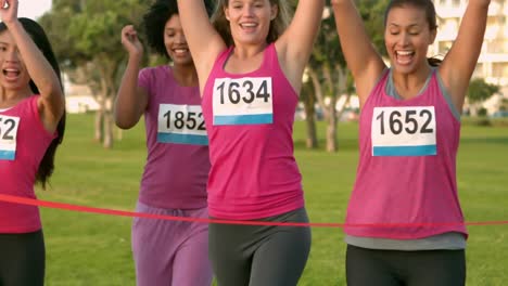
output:
M203 90L213 64L226 44L209 22L204 0L178 0L178 11Z

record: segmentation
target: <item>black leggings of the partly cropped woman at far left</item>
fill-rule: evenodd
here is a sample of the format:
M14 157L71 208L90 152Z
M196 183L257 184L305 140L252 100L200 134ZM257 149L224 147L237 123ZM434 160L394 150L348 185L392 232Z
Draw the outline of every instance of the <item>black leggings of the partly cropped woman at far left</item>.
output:
M45 260L42 231L0 234L0 286L43 285Z

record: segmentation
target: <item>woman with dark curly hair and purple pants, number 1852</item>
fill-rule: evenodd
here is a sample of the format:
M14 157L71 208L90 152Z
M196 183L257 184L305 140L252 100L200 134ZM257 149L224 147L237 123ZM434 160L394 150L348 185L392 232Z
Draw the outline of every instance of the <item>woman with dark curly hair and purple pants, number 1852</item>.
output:
M207 218L208 139L198 75L172 0L143 17L149 46L172 65L141 69L143 47L132 25L122 30L129 54L115 102L116 125L132 128L144 115L148 158L137 211ZM137 285L209 285L207 224L136 218L132 252Z

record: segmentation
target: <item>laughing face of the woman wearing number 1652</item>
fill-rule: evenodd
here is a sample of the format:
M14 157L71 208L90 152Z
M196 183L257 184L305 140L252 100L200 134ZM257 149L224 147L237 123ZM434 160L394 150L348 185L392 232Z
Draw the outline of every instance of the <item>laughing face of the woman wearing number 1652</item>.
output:
M426 11L412 5L392 8L386 17L384 43L392 67L411 74L427 64L429 44L436 29L431 29Z

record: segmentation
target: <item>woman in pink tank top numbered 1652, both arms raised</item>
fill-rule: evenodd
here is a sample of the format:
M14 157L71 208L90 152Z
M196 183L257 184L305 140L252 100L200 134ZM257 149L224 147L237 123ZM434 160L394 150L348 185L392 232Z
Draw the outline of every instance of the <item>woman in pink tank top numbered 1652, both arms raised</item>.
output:
M352 0L332 0L360 100L359 165L350 200L348 285L463 285L468 233L457 195L460 110L485 32L490 0L470 0L442 63L431 0L392 0L386 67ZM376 225L379 224L379 225Z

